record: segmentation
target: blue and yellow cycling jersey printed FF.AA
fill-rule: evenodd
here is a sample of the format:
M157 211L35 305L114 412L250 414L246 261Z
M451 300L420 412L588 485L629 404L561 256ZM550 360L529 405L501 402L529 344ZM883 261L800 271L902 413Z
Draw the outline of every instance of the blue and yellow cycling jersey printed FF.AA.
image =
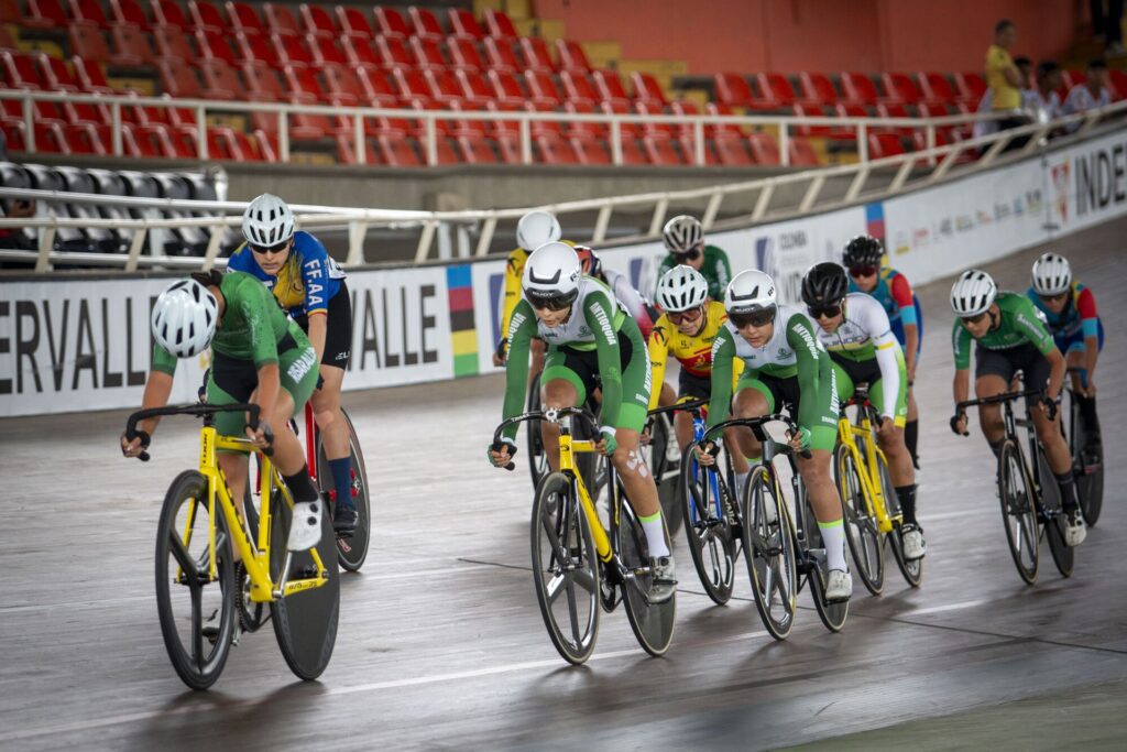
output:
M340 290L340 281L346 276L321 241L302 230L293 233L290 257L276 275L263 271L246 244L231 254L227 268L252 274L265 282L278 304L295 318L313 311L327 312L329 300Z

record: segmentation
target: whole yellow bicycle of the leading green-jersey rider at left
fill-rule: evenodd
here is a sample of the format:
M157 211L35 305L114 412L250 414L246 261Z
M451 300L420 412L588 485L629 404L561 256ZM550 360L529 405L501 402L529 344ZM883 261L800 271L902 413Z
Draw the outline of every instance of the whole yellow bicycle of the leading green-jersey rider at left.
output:
M290 670L304 680L325 671L336 643L340 590L329 515L321 515L320 542L307 551L289 551L293 497L269 457L259 465L263 496L256 524L239 514L219 469L220 451L249 454L254 442L223 436L215 430L219 413L249 413L258 423L257 405L168 406L132 414L125 436L136 424L165 415L203 418L199 468L185 470L169 486L157 531L157 610L168 656L177 674L197 690L211 687L223 671L239 637L240 614L257 611L249 631L263 623L268 603L274 636ZM264 453L268 454L268 450ZM148 452L140 459L148 460ZM245 572L246 584L240 583Z

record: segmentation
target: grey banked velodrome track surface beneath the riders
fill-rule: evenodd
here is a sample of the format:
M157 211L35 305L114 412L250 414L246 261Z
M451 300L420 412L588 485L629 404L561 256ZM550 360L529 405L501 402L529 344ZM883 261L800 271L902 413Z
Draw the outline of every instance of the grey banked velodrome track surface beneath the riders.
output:
M920 492L929 554L909 591L858 582L831 635L806 592L790 639L763 630L744 578L712 605L678 539L678 619L664 658L622 610L569 667L529 565L532 488L489 468L502 379L346 395L376 499L373 551L341 586L328 670L304 683L270 629L246 636L210 692L185 689L161 642L152 554L160 501L197 433L166 419L153 461L117 450L124 412L0 423L0 747L39 749L1122 749L1127 740L1127 220L1056 244L1097 295L1103 515L1062 580L1019 580L993 458L948 430L949 280L920 290ZM1023 290L1024 251L987 268ZM526 458L521 454L517 461Z

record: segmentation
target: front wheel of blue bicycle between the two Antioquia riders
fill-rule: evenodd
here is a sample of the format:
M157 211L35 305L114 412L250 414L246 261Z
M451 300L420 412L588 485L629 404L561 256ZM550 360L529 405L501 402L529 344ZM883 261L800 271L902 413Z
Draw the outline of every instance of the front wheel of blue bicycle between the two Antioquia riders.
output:
M731 599L736 578L734 521L724 513L715 492L725 493L719 478L696 462L696 443L690 443L681 458L681 490L677 494L685 520L685 539L701 586L712 602L724 605ZM713 485L715 481L715 485Z

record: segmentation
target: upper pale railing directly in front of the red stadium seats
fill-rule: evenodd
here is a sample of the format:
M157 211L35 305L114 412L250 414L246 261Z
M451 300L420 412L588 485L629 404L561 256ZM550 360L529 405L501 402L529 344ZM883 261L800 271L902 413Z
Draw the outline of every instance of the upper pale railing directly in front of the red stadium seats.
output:
M124 95L78 95L72 92L45 92L32 90L0 90L0 99L17 99L23 103L24 131L26 151L36 152L34 129L35 103L70 101L74 104L91 104L109 107L110 110L110 154L124 156L122 140L123 108L157 107L162 109L192 110L196 123L196 158L210 159L207 144L207 115L218 113L266 113L277 118L278 160L291 161L290 156L290 118L293 115L325 115L339 117L350 124L352 147L356 161L367 163L367 141L365 120L387 117L394 120L414 120L423 123L423 150L427 165L438 165L438 123L456 121L515 122L521 139L521 161L533 163L532 124L533 123L598 123L610 131L611 161L623 163L622 134L627 125L677 125L691 127L693 132L693 165L707 163L707 130L706 126L746 126L752 129L777 130L779 133L779 159L782 166L790 163L790 139L796 129L833 127L842 133L852 133L857 143L859 159L869 160L869 133L887 129L909 129L924 133L925 145L934 147L937 131L979 121L1003 120L1014 113L975 113L944 115L941 117L807 117L793 115L667 115L667 114L606 114L606 113L544 113L544 112L505 112L505 110L449 110L449 109L400 109L391 107L344 107L329 105L298 105L284 103L255 101L218 101L213 99L174 99L170 97L137 97Z

